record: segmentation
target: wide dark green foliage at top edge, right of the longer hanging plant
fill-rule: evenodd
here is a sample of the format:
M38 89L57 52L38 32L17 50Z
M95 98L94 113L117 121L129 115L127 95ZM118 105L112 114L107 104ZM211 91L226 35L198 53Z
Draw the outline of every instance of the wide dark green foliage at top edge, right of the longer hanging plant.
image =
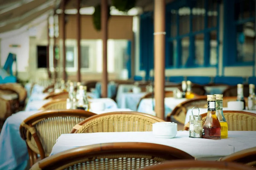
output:
M136 0L112 0L112 5L116 7L117 10L127 12L131 8L134 8Z

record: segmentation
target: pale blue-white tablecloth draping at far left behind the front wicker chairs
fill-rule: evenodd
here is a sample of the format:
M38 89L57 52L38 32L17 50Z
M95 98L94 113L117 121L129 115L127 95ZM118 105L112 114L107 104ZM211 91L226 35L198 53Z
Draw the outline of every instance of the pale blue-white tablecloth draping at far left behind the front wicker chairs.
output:
M96 114L131 111L130 109L105 109ZM40 111L20 111L8 117L0 133L0 170L24 170L28 159L26 142L20 137L20 124L29 116Z

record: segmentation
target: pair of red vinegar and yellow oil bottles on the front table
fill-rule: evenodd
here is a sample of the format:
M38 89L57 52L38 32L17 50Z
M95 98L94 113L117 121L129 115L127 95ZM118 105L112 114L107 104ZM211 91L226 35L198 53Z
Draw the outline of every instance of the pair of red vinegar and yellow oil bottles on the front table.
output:
M227 121L223 114L223 95L207 95L207 116L203 124L202 137L224 139L228 137Z

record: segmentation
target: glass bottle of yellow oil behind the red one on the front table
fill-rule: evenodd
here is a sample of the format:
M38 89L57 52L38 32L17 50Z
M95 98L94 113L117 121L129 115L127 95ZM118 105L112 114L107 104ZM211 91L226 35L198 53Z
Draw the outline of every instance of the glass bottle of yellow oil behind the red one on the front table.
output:
M221 124L221 139L228 137L227 132L227 121L223 114L223 94L215 94L216 95L216 114L218 120Z

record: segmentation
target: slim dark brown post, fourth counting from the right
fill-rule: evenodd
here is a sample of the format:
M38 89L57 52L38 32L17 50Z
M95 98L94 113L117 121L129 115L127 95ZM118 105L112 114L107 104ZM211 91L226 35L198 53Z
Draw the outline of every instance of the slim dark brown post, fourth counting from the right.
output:
M67 75L66 75L66 21L65 21L65 1L62 0L62 14L61 14L61 20L62 20L62 54L63 54L63 73L62 73L62 79L66 81Z

